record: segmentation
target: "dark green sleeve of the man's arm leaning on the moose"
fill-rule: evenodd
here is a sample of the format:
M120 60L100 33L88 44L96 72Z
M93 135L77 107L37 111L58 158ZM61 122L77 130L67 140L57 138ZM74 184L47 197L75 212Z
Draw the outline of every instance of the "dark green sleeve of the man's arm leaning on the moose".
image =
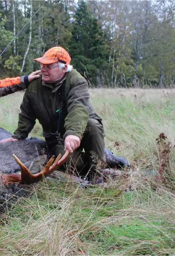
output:
M32 110L30 93L27 90L24 94L20 109L21 112L19 114L18 128L14 131L12 137L18 140L23 140L28 137L36 123L36 117Z

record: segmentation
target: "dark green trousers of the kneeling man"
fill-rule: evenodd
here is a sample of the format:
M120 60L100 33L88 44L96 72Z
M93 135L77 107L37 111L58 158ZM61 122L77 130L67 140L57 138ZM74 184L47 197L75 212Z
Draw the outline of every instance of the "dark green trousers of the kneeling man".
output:
M51 148L56 157L64 154L64 145L56 145ZM103 125L95 119L88 119L87 128L81 140L80 146L70 153L61 170L68 170L84 176L89 170L95 171L99 160L105 160L105 142Z

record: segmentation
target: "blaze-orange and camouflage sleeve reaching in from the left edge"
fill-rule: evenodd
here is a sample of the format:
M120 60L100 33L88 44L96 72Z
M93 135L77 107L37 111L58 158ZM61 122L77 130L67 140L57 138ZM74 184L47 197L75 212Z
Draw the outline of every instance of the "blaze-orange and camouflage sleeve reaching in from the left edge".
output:
M29 86L28 76L13 77L0 80L0 97L18 92Z

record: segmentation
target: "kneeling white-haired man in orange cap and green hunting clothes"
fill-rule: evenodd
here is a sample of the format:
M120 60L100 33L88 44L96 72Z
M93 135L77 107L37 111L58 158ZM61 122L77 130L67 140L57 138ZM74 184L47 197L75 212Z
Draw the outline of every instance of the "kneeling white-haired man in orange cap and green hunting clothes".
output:
M58 156L68 149L73 154L66 164L84 176L89 170L96 171L98 160L105 160L104 129L101 118L92 111L87 81L72 69L70 60L62 47L53 47L34 59L40 63L42 76L33 80L24 94L13 136L0 142L27 138L38 119L51 153ZM115 158L106 153L106 160L118 165L119 158Z

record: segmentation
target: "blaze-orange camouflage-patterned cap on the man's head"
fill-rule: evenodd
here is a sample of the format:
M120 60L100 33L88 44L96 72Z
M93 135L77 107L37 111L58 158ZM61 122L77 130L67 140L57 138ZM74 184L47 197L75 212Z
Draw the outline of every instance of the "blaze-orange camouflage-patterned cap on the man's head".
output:
M57 61L64 64L70 64L70 60L69 53L61 46L53 47L45 52L43 57L34 59L34 61L39 61L43 64L51 64Z

